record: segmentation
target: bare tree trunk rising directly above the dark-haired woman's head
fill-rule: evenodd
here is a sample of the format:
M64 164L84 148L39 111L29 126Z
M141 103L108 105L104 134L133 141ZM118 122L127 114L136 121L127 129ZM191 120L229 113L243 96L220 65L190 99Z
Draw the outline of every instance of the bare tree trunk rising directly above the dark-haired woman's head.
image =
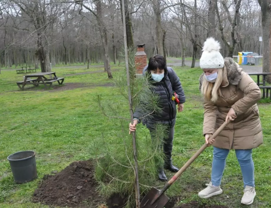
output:
M159 55L163 55L163 37L162 37L162 20L161 20L161 0L152 0L153 11L156 21L156 40L157 40L157 52Z

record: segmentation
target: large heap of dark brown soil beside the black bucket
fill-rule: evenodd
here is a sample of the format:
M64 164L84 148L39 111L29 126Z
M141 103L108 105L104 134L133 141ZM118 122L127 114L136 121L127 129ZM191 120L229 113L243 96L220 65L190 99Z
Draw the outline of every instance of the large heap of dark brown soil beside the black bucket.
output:
M92 161L73 162L56 175L45 175L34 192L34 202L69 207L98 207L106 199L96 190ZM82 203L86 201L86 203Z

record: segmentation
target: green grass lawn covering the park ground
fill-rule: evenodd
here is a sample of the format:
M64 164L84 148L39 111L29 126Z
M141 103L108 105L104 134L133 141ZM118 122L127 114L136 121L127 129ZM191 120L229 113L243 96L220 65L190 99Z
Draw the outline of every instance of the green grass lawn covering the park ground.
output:
M113 76L117 77L122 73L123 67L123 63L112 66ZM190 67L174 69L181 79L187 98L184 111L177 114L173 143L173 163L181 167L204 144L204 109L198 89L201 70ZM127 101L123 100L118 88L112 86L112 80L108 80L107 73L98 72L100 70L103 68L57 68L57 76L65 77L64 85L79 83L84 86L70 90L61 90L61 87L57 90L44 90L42 86L27 86L24 91L20 91L16 85L16 81L22 80L23 74L16 74L14 71L1 72L0 207L48 207L31 202L33 192L42 177L54 170L61 171L73 161L94 157L93 143L101 140L103 135L111 137L112 132L118 131L118 125L100 113L95 100L97 95L102 95L110 103L123 103L129 118ZM271 207L270 105L259 104L259 109L265 144L253 151L257 192L255 202L250 206L253 208ZM146 127L138 125L138 138L146 133ZM6 158L22 150L34 150L37 153L38 179L26 184L16 184ZM168 189L167 195L179 196L178 204L197 200L200 203L247 207L240 203L243 183L234 151L231 151L227 158L222 178L223 194L211 199L197 197L197 193L210 180L211 162L212 147L209 147ZM169 172L166 174L168 177L172 176Z

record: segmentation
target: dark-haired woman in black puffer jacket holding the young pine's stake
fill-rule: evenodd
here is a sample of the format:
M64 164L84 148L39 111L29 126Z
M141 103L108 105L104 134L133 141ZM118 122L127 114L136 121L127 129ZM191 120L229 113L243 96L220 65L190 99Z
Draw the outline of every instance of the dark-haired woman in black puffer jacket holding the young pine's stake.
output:
M184 108L185 96L179 77L171 67L166 66L166 61L163 56L155 55L149 59L149 64L143 69L143 75L145 73L151 73L151 81L154 81L154 90L160 97L160 104L162 112L157 115L153 114L151 119L143 118L144 112L140 108L136 108L133 115L133 125L130 123L129 130L135 131L135 126L142 121L142 123L150 130L152 130L156 123L166 125L168 129L168 135L164 138L163 152L166 155L166 161L164 167L171 171L177 172L179 169L172 164L172 145L174 137L174 125L176 122L176 103L172 100L173 92L179 96L180 103L178 104L178 110L182 111ZM160 167L158 170L158 179L166 181L167 177Z

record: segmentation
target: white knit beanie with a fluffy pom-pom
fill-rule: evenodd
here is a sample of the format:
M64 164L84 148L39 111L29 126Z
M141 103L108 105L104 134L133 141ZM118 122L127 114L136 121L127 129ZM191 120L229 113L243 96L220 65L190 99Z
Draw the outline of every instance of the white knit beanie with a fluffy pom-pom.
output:
M204 42L199 66L202 69L217 69L224 67L224 58L219 53L220 43L214 38L207 38Z

